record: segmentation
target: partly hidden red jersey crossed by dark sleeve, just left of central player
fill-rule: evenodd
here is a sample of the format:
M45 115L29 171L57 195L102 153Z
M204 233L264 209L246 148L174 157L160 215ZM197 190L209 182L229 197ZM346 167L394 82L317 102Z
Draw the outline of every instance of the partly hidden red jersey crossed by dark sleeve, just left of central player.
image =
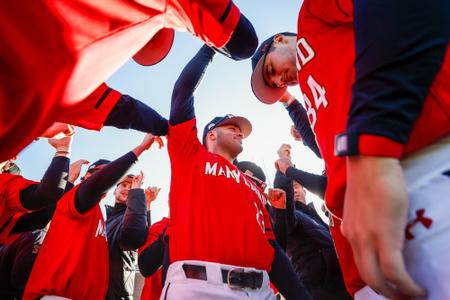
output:
M159 235L164 231L164 229L169 225L169 219L163 218L161 221L156 222L148 229L147 240L144 246L139 248L138 254L150 246L154 241L156 241ZM141 293L141 300L159 300L161 292L163 289L162 284L162 268L159 268L155 274L145 278L144 288Z

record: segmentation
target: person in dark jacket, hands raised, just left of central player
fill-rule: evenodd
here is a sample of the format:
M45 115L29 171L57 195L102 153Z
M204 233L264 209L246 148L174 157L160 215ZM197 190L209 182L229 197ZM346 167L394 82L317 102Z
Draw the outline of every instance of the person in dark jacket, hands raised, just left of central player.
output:
M129 174L116 184L115 204L106 219L109 246L109 287L106 299L132 299L137 249L147 238L150 205L159 193L156 187L142 189L144 173Z

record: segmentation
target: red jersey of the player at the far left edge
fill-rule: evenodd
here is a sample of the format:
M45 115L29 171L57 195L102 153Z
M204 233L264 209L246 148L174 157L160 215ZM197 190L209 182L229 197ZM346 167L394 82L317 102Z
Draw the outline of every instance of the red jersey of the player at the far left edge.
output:
M0 174L0 245L10 244L19 236L11 230L17 220L29 211L20 203L20 191L38 183L20 175Z

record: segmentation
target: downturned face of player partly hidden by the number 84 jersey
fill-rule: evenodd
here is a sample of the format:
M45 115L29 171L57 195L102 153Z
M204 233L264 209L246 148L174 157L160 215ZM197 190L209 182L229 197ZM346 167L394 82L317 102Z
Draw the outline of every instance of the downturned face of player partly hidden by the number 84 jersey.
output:
M285 87L297 84L297 67L290 43L272 44L272 50L264 62L264 80L271 87Z

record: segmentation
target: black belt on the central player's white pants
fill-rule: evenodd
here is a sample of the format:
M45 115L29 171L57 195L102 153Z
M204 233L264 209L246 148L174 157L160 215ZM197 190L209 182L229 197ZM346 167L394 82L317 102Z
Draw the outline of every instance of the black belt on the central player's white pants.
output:
M186 278L208 280L205 266L183 264ZM245 271L242 268L222 269L222 282L232 289L252 289L262 287L263 273L258 271Z

